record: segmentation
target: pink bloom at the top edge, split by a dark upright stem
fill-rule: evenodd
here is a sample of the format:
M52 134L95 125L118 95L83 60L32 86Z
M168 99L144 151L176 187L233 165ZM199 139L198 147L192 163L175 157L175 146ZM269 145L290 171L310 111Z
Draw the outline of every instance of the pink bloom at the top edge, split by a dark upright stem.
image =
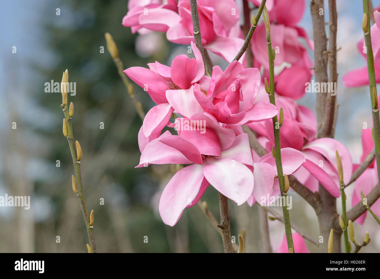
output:
M232 61L244 43L235 1L198 0L197 5L204 48ZM123 18L123 25L132 27L132 32L142 27L166 32L166 38L177 44L190 44L194 39L190 1L179 0L178 13L168 7L141 10L144 7L128 11Z

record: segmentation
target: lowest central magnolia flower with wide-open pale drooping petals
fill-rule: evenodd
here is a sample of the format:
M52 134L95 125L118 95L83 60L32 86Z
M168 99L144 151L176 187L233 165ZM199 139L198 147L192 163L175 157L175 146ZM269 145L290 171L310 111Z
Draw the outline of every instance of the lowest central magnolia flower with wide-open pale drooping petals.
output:
M185 208L198 202L209 184L237 205L252 194L260 197L273 189L275 172L269 164L253 163L247 134L236 136L233 129L220 126L206 112L195 119L205 121L205 134L184 129L175 136L166 131L146 145L138 165L192 164L179 170L161 195L160 215L171 226Z

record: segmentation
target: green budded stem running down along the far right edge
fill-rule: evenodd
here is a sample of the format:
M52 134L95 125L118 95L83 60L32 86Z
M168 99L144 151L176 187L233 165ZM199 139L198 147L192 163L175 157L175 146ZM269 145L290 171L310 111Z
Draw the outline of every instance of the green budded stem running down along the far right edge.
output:
M368 0L363 0L363 11L364 13L367 14L367 32L364 33L364 40L366 41L366 49L367 49L367 67L368 67L368 78L369 78L369 92L370 92L371 105L372 105L372 121L374 123L373 129L374 129L374 142L375 142L375 156L376 156L376 163L377 163L377 176L378 176L378 179L380 179L380 118L379 118L379 109L378 109L378 104L377 104L377 93L372 94L373 88L376 89L376 77L375 77L375 68L374 68L374 54L372 52L371 26L370 26L370 20L369 20ZM377 92L377 90L375 90L375 92ZM380 183L379 183L379 191L380 191Z

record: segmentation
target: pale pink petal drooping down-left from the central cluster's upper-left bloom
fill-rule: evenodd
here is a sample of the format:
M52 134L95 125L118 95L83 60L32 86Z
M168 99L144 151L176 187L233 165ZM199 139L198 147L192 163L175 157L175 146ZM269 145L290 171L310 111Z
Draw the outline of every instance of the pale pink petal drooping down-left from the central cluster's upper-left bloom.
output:
M144 132L144 135L149 137L152 134L160 133L168 123L173 111L174 109L169 103L163 103L152 107L142 122L142 131Z

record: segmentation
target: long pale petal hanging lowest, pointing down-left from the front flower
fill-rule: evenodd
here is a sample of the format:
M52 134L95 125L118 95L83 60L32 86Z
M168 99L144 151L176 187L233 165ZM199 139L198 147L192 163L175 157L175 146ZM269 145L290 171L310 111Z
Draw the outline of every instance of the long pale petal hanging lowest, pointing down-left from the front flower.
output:
M184 167L166 185L158 205L165 224L173 227L184 209L195 200L204 179L202 169L202 165L196 164Z

